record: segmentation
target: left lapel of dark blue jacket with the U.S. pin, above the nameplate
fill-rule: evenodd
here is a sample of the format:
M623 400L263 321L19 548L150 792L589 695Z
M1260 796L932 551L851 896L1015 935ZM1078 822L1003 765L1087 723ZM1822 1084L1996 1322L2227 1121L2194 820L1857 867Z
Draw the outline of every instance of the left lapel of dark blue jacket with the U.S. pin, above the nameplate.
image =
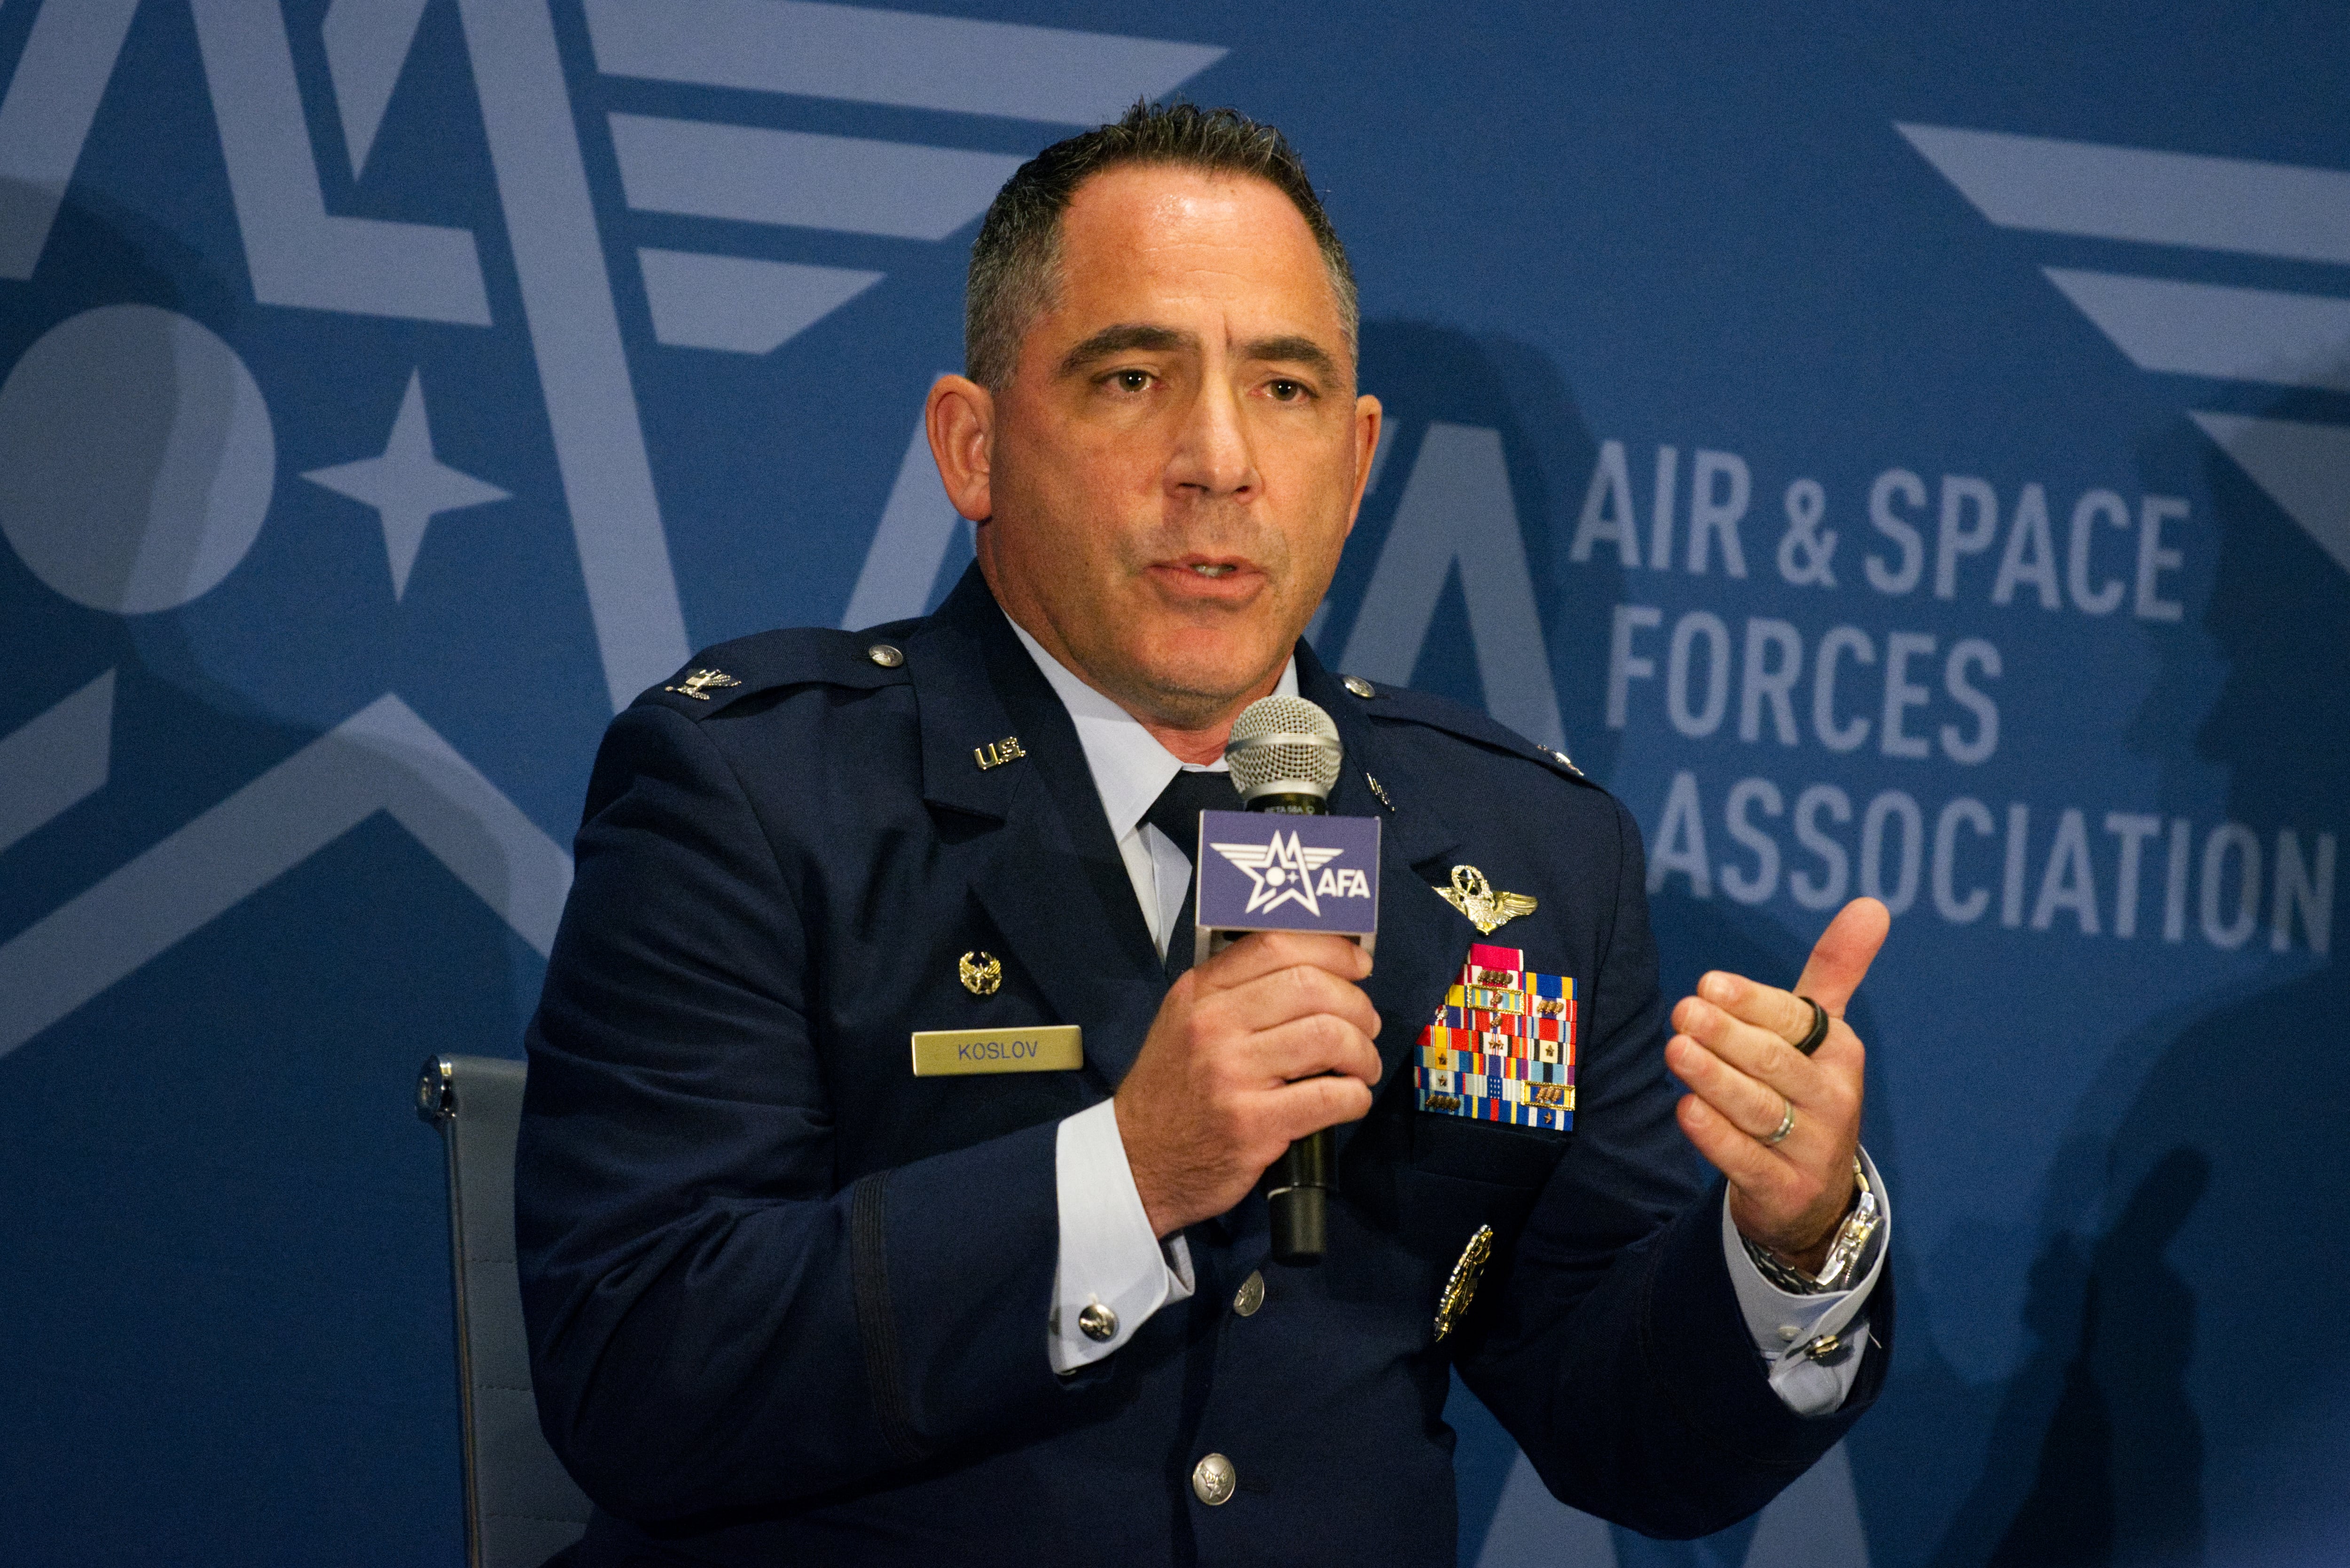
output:
M1013 636L978 566L907 638L921 714L924 798L961 843L971 892L1062 1023L1086 1030L1086 1068L1116 1089L1166 995L1133 880L1069 711ZM1022 756L975 751L1018 737Z

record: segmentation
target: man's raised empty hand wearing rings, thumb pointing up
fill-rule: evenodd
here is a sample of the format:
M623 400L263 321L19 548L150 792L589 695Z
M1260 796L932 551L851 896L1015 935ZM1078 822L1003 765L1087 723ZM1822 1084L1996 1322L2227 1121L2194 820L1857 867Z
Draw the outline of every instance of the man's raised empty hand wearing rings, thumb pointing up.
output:
M1690 1087L1680 1129L1730 1178L1730 1221L1791 1265L1817 1270L1852 1204L1852 1155L1861 1141L1861 1066L1868 1052L1845 1007L1885 946L1892 915L1875 899L1838 911L1795 991L1708 972L1673 1007L1664 1066ZM1810 1056L1812 998L1828 1038ZM1772 1143L1781 1120L1793 1127Z

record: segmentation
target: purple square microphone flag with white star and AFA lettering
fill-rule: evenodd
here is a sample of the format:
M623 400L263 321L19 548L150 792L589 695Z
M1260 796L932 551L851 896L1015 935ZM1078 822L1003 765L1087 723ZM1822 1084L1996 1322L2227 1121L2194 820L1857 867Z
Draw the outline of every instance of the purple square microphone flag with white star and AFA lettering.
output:
M1377 939L1377 817L1201 812L1191 864L1201 958L1210 932L1330 932L1365 951Z

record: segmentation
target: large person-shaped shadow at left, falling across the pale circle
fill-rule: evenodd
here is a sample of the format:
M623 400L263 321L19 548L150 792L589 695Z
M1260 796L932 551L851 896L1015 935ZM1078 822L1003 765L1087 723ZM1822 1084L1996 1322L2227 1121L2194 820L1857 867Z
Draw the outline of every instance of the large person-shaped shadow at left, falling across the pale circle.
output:
M134 458L92 488L99 554L73 554L68 523L89 516L54 509L70 474L9 495L0 732L103 669L115 683L106 784L7 847L0 944L317 742L207 674L176 615L216 545L169 538L188 526L172 502L240 439L219 415L244 371L197 331L233 336L240 300L176 237L87 200L7 296L9 369L92 312L139 331L85 364L125 376L115 397L75 404L85 425L110 408ZM458 859L496 861L468 824L451 833ZM157 920L132 913L110 939ZM26 1561L461 1556L446 1207L411 1077L428 1049L517 1054L536 972L482 897L374 815L0 1059L0 1296L42 1345L0 1422Z

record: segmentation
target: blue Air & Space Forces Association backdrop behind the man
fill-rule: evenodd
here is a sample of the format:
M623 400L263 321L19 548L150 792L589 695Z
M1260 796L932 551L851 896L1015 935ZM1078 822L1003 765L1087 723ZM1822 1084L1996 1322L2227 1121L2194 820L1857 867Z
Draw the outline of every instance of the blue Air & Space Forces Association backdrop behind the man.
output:
M1659 1547L1462 1397L1462 1561L2343 1561L2350 14L926 2L0 5L9 1554L461 1559L411 1073L616 704L961 570L973 223L1182 92L1363 279L1316 646L1624 796L1668 986L1896 911L1885 1404Z

